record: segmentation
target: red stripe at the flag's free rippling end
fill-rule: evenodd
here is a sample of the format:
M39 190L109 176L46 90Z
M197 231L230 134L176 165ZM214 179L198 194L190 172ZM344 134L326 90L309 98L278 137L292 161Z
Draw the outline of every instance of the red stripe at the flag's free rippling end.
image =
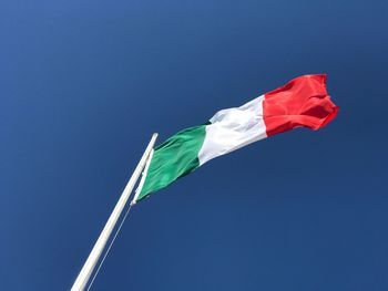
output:
M319 129L337 112L338 107L326 92L325 74L298 76L266 93L263 102L267 136L302 126Z

